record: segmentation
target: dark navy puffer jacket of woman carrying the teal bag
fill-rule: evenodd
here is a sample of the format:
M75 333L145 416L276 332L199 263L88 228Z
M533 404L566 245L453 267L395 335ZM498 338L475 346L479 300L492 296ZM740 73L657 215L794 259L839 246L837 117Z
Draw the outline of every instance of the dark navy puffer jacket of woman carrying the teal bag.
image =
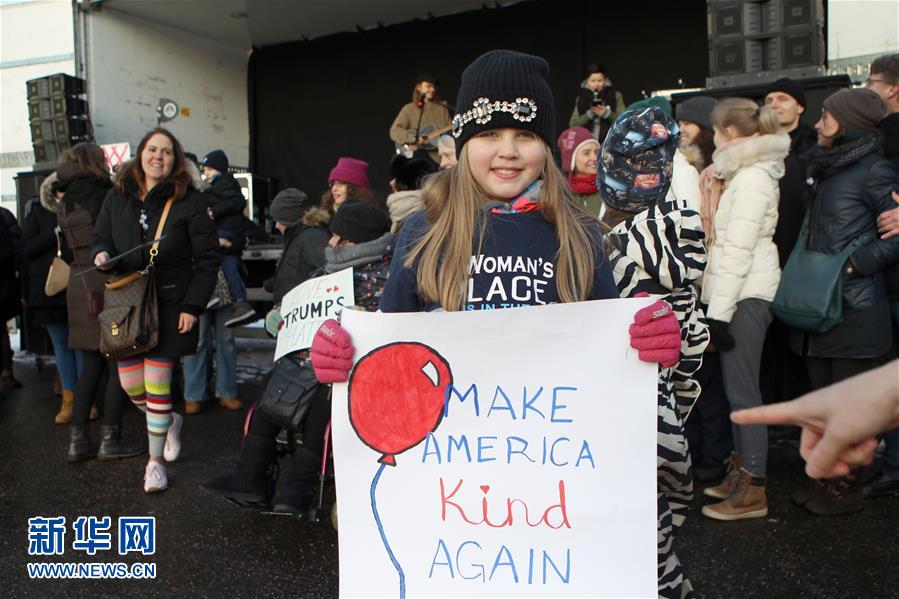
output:
M879 143L861 157L839 167L826 167L828 154L864 141L854 132L837 140L831 150L809 153L813 178L809 208L810 250L842 251L853 239L876 230L877 216L895 207L890 192L899 184L892 165L880 156ZM875 134L867 133L867 140ZM890 306L884 271L899 259L899 237L860 247L843 268L843 321L825 333L791 334L790 345L801 355L821 358L871 358L890 350Z

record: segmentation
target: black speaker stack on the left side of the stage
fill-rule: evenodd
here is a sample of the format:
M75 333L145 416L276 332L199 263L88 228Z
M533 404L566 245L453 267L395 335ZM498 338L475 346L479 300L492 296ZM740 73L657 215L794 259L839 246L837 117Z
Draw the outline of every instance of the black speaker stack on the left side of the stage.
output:
M32 79L26 85L35 169L54 168L61 152L94 139L87 100L83 97L85 81L57 73Z

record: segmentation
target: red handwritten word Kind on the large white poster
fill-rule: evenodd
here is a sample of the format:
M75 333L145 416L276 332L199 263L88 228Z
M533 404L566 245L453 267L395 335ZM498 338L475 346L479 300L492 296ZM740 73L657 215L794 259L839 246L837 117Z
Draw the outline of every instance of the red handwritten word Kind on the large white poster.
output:
M499 500L498 505L500 507L496 507L497 501L494 500L492 504L494 507L491 510L491 502L488 497L490 485L480 485L481 493L484 494L481 498L480 509L478 509L477 506L465 508L459 503L461 499L454 499L456 494L462 488L464 482L465 481L460 478L459 482L456 483L456 486L453 487L453 490L447 494L447 485L444 484L443 477L440 477L440 517L444 522L446 522L447 512L449 512L451 515L457 514L464 522L473 526L479 526L481 524L485 524L491 528L513 526L517 516L517 521L519 523L531 528L536 528L538 526L546 526L552 529L559 529L563 526L565 528L571 528L571 523L568 521L568 507L565 502L565 481L563 480L559 481L559 502L548 506L542 512L539 509L534 511L526 500L513 497L506 497L505 500ZM538 519L532 520L532 513L534 516L541 513L542 515ZM557 514L557 523L555 524L551 521L551 517L554 513Z

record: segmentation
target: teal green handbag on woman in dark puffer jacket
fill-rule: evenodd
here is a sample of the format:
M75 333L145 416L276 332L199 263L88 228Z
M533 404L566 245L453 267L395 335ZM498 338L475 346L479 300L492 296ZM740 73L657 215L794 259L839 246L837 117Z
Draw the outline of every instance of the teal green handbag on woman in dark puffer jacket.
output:
M771 309L788 327L824 333L843 320L843 266L859 247L876 237L868 231L853 239L839 254L806 248L808 215L790 253Z

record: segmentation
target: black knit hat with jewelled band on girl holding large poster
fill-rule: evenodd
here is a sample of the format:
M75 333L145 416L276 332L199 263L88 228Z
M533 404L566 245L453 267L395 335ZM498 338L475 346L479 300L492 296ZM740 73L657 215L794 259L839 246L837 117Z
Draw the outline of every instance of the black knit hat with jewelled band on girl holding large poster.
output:
M512 50L491 50L468 65L453 118L456 156L472 135L506 127L532 131L551 147L556 111L548 75L545 60Z

